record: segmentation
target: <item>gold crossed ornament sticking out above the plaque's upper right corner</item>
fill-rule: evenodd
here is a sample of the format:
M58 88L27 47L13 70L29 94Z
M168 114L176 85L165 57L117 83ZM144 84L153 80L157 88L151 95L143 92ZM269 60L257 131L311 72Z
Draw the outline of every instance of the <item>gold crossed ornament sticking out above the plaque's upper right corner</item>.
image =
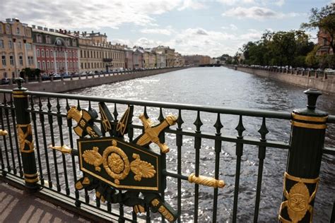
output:
M177 121L177 117L173 116L172 114L167 115L165 120L157 126L153 126L153 122L150 119L146 119L146 116L144 116L144 114L141 114L139 116L139 119L141 119L143 123L144 134L139 136L139 138L136 140L136 144L148 145L150 143L155 143L160 147L161 152L169 152L170 148L166 145L166 143L160 143L158 135L165 128L173 126Z

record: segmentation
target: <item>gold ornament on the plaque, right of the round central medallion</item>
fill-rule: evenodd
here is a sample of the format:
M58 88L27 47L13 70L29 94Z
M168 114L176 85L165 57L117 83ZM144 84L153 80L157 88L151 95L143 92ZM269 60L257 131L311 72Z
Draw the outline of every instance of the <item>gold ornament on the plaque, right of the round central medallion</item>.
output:
M136 153L133 154L133 158L135 160L130 163L130 169L135 174L135 181L141 181L142 177L151 178L155 176L156 171L153 165L146 161L142 161L141 157Z

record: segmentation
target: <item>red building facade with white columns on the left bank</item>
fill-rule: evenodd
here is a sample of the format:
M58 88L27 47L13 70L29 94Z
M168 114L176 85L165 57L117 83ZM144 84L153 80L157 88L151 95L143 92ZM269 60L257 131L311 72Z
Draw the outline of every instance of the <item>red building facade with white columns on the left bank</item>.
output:
M33 25L35 66L41 73L76 73L79 71L78 41L64 30Z

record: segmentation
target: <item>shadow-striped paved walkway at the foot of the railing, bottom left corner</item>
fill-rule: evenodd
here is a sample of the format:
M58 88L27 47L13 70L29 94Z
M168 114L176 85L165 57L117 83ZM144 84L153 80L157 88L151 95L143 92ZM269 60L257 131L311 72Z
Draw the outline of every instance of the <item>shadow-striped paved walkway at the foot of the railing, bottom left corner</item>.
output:
M88 222L0 180L0 222Z

